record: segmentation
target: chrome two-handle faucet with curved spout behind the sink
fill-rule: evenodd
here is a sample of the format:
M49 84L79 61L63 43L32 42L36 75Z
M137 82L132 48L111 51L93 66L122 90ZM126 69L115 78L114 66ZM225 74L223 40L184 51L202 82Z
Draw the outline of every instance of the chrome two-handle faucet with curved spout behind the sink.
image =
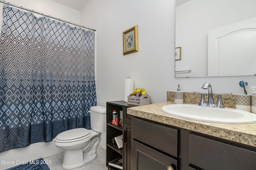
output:
M213 93L212 93L212 85L210 83L204 83L202 86L202 89L208 89L208 102L206 103L204 100L204 93L201 92L194 92L194 93L199 93L201 94L201 100L198 104L198 106L206 106L206 107L216 107L216 108L225 108L223 103L222 103L222 98L221 96L223 94L232 94L232 93L222 93L218 94L218 100L216 104L214 104L213 100Z

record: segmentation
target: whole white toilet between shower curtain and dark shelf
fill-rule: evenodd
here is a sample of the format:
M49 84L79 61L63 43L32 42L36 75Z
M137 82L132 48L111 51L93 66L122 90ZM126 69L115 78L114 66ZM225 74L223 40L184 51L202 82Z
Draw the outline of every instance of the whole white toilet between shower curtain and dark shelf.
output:
M70 129L58 134L54 139L54 144L64 149L64 169L77 168L96 158L100 135L106 126L106 107L92 106L90 113L91 130Z

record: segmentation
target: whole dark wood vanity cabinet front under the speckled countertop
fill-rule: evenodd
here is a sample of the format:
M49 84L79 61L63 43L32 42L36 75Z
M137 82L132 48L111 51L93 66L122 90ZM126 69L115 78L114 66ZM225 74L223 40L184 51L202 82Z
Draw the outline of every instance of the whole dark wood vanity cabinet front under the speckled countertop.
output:
M132 170L256 170L256 147L132 117L131 161Z

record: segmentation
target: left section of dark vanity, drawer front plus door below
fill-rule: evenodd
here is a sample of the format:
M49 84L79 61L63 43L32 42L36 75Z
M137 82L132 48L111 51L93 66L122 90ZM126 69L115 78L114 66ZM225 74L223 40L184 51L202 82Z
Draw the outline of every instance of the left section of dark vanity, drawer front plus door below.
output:
M132 118L132 170L177 170L178 129Z

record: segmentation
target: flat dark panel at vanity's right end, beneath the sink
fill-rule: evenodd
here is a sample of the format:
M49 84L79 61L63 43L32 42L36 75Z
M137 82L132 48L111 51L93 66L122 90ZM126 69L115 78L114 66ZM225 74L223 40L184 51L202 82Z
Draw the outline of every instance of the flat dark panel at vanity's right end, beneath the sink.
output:
M256 152L190 133L188 162L205 170L255 170Z

